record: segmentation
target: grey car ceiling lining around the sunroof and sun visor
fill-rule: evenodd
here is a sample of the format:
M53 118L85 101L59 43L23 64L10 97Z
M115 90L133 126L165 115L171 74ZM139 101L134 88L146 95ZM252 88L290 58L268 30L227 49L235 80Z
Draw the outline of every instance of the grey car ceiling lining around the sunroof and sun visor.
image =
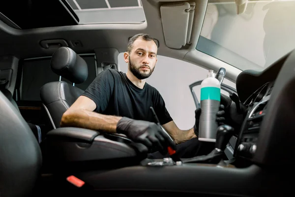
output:
M201 33L207 0L192 0L196 6L190 44L181 49L166 46L160 6L176 1L185 0L142 0L146 16L146 22L142 24L90 24L19 30L0 21L0 56L13 55L19 59L51 56L55 50L45 49L40 45L40 41L46 39L64 39L69 43L69 47L79 54L94 53L95 48L115 48L121 53L125 52L129 37L137 33L148 33L159 41L158 55L184 60L208 69L218 70L220 66L226 67L229 79L234 81L241 70L206 54L201 53L197 55L200 58L195 57L195 48ZM71 45L73 40L81 41L83 46L73 47ZM206 56L206 61L204 61L204 56Z

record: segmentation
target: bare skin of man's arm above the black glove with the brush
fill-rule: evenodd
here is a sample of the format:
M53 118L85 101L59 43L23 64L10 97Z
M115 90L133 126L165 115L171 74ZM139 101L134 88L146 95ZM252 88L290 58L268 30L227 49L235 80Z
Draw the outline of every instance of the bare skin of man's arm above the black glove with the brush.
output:
M95 108L93 100L80 96L62 115L60 127L80 127L115 133L118 121L122 117L93 112Z

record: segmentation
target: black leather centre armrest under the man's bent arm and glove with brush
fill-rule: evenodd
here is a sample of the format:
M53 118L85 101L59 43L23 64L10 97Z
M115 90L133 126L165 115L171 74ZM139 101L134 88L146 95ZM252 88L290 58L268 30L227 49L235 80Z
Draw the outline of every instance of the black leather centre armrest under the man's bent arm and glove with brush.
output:
M44 169L47 170L139 164L146 154L139 152L145 148L116 133L73 127L49 131L41 144Z

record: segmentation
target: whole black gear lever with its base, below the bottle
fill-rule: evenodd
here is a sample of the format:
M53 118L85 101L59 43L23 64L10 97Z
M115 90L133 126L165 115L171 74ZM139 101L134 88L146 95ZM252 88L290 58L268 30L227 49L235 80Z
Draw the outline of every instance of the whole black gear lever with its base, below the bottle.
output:
M230 138L234 134L234 128L229 125L222 125L217 128L215 148L208 154L189 159L181 159L182 163L205 163L218 164L222 159L223 152Z

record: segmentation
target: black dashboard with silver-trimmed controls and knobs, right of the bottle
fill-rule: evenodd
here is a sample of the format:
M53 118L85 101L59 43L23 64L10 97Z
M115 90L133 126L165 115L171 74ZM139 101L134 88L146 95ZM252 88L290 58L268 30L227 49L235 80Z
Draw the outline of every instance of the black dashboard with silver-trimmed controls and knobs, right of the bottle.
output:
M261 126L267 114L267 104L288 56L289 54L263 71L244 70L237 76L237 94L247 110L236 140L236 159L253 161L259 146Z

